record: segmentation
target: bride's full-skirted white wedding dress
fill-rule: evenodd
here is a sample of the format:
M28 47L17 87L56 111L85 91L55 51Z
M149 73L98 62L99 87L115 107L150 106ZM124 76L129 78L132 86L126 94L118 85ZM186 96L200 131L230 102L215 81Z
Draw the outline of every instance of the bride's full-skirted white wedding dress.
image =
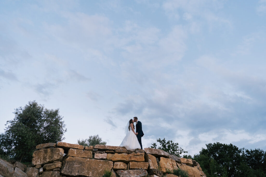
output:
M125 147L127 150L140 149L140 144L139 144L137 136L132 131L132 128L131 127L129 128L130 128L129 132L124 137L122 143L119 146Z

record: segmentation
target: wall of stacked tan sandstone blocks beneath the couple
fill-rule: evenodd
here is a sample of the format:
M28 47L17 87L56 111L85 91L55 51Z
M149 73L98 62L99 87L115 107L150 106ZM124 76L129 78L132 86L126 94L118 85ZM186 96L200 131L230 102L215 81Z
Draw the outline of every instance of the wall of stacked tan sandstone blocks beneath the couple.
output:
M63 142L36 146L32 165L31 170L38 171L39 177L99 177L106 171L111 172L112 177L157 177L163 176L166 170L174 169L187 171L189 177L206 176L196 161L169 155L160 149L130 151L119 146L88 147Z

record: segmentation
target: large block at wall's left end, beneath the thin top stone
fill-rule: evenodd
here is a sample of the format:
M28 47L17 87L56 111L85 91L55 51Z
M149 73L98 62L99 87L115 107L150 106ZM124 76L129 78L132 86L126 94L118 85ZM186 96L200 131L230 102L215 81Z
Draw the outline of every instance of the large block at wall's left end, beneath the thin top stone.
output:
M64 156L64 149L42 149L34 151L32 158L33 165L44 165L46 163L52 163L54 161L61 161Z

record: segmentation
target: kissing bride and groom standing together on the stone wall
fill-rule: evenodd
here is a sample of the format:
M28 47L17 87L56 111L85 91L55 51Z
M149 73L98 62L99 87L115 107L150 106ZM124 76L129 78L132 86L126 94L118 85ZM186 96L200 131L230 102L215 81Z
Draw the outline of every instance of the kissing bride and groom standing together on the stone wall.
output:
M136 133L134 122L136 122ZM124 137L120 147L125 147L127 150L142 149L141 137L144 133L142 131L142 124L137 117L134 120L130 119L125 128L126 136Z

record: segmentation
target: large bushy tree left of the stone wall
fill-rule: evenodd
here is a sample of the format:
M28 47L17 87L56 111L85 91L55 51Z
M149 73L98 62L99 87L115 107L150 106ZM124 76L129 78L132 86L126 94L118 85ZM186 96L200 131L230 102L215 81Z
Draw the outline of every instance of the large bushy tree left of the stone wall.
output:
M36 101L16 108L15 118L6 123L0 135L0 153L14 160L30 162L36 145L64 140L66 132L59 109L46 109Z

